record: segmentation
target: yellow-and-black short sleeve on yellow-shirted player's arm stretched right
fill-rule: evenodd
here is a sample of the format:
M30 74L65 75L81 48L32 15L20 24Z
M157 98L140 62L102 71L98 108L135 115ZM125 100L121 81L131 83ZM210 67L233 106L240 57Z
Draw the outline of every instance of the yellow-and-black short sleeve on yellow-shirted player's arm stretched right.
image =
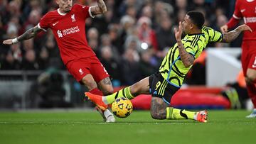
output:
M223 40L223 34L220 31L215 31L209 27L203 27L203 30L208 34L209 42L220 42Z

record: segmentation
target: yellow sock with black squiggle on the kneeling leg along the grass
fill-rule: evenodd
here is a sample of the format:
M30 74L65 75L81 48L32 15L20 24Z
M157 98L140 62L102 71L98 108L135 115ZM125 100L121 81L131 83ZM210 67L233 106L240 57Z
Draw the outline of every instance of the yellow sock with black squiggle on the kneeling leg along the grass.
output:
M166 108L166 119L195 119L196 112L186 111L185 109Z

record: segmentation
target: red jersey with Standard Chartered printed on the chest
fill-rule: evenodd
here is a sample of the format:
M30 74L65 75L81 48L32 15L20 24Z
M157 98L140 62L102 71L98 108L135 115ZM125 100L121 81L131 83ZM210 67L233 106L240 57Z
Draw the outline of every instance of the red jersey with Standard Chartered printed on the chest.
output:
M43 31L47 28L53 31L65 65L71 60L95 55L85 38L85 19L89 16L94 17L89 6L75 4L68 13L61 13L59 9L46 13L38 23Z

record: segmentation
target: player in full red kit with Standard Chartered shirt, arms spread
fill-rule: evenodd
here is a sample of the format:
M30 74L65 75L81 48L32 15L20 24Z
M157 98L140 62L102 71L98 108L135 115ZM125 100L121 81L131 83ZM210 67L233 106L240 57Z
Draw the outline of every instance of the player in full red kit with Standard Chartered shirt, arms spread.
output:
M112 94L113 87L110 75L97 59L95 52L85 38L85 20L94 18L97 14L107 11L103 0L97 0L97 6L82 6L75 4L73 0L55 0L59 8L49 11L41 18L34 28L29 29L14 39L4 40L4 44L11 45L22 40L28 40L41 31L50 28L58 43L60 56L68 72L75 79L84 84L90 92L95 94ZM98 87L99 89L97 89ZM98 111L107 122L114 122L114 116L107 109Z

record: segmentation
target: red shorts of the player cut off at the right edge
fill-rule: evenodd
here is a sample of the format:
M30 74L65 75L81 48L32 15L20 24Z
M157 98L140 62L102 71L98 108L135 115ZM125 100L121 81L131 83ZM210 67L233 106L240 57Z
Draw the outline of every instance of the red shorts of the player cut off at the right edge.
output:
M247 69L256 70L256 40L242 41L242 71L244 75Z

